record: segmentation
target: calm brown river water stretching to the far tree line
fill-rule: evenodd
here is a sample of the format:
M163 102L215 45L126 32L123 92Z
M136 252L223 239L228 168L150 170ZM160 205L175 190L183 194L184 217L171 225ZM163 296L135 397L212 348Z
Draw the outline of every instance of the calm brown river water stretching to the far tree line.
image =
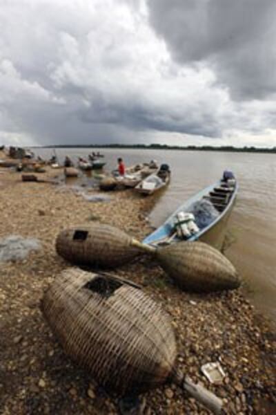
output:
M77 160L77 156L87 156L89 152L89 149L57 149L57 156L63 162L66 154ZM50 157L52 149L35 149L35 153ZM122 157L126 166L152 159L170 165L170 185L154 196L155 208L149 216L155 227L190 196L217 181L224 169L233 170L239 192L228 222L230 246L225 253L242 275L246 295L276 327L274 154L153 149L102 149L101 153L106 156L108 171L116 167L117 157Z

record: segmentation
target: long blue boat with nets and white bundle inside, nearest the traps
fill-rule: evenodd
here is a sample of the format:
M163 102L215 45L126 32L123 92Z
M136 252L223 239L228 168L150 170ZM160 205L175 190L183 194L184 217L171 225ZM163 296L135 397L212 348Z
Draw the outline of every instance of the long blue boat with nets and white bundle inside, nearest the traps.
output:
M183 203L143 242L151 246L161 246L183 239L199 240L221 250L237 190L235 179L217 181L206 187Z

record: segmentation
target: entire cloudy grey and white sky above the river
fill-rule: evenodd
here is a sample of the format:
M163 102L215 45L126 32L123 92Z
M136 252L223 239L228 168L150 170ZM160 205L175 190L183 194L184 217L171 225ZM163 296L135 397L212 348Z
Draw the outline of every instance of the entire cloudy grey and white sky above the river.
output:
M276 146L275 0L1 0L0 145Z

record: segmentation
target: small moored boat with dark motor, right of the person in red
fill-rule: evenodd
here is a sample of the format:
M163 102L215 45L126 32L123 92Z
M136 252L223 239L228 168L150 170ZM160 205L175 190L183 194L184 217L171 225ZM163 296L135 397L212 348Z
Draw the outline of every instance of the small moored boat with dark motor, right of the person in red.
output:
M150 174L135 187L135 192L153 194L170 182L170 169L168 165L161 165L157 172Z

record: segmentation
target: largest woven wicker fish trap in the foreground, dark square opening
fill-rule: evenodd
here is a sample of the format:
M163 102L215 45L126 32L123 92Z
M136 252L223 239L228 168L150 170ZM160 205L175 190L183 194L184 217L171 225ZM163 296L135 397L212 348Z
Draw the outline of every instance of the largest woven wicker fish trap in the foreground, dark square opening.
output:
M71 268L48 288L41 308L66 353L107 389L147 391L174 370L170 319L131 283Z

